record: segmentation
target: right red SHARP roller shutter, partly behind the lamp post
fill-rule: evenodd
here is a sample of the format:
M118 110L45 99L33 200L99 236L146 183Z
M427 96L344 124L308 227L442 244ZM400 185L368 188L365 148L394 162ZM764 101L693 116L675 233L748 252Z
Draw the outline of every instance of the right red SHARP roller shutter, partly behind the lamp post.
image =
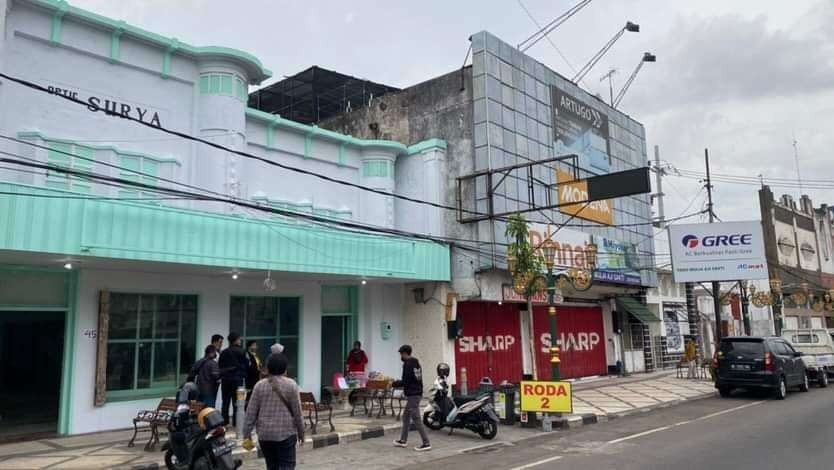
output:
M556 313L561 378L607 374L602 310L560 306ZM533 330L539 378L550 378L550 317L546 306L533 307Z

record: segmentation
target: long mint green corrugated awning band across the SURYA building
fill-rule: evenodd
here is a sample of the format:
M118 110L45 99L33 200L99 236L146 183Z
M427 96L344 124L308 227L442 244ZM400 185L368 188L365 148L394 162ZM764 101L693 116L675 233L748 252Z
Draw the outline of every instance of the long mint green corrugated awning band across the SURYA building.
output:
M76 193L0 182L0 250L405 280L451 277L449 247L431 241L128 201L29 196L61 194Z

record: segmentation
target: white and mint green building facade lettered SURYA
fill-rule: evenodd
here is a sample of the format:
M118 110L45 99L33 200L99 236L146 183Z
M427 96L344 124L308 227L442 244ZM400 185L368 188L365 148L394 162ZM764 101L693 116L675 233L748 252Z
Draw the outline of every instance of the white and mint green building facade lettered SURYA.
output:
M257 58L64 1L2 0L0 33L0 72L42 87L0 79L4 428L129 427L215 333L262 355L281 342L314 393L356 339L369 369L398 373L419 313L407 286L451 272L447 245L402 234L415 217L440 233L443 214L389 194L413 183L401 167L442 172L444 141L360 139L248 108L248 86L271 75ZM32 396L55 403L37 423Z

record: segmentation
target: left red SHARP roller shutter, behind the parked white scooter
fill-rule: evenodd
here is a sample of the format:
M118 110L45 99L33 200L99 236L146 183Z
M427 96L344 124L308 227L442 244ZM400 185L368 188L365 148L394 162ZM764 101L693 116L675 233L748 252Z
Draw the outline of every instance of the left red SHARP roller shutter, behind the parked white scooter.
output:
M469 389L481 378L494 383L521 380L521 331L517 304L461 302L458 318L463 322L463 337L455 341L455 363L466 368Z

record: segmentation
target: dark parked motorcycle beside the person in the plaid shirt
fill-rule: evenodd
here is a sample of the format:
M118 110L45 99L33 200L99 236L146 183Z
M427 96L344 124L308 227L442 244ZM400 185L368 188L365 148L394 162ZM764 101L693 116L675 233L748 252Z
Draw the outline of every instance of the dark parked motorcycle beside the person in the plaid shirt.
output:
M232 459L234 442L226 441L223 416L214 408L191 411L197 386L185 383L177 393L177 409L168 422L165 466L169 470L235 470L243 465Z

